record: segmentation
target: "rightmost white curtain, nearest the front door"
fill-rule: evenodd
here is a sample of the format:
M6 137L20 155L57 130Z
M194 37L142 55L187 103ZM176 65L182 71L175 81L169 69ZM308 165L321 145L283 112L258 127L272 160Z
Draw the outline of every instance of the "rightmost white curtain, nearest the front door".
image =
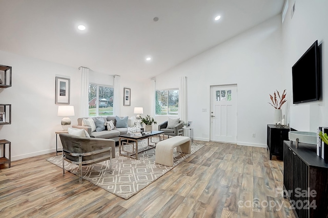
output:
M187 76L180 77L179 86L179 110L178 114L180 120L184 122L188 121L188 102L187 102Z

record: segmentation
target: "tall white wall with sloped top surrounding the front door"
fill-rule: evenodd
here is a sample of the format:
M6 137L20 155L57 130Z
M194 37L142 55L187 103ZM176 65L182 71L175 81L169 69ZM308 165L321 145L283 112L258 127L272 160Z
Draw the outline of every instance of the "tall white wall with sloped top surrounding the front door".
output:
M178 88L179 77L188 77L188 120L193 121L194 138L208 141L210 86L236 83L237 144L265 147L267 124L274 117L269 94L286 89L281 45L278 15L156 76L156 88ZM202 112L202 108L207 108L207 112ZM156 116L158 121L165 119Z

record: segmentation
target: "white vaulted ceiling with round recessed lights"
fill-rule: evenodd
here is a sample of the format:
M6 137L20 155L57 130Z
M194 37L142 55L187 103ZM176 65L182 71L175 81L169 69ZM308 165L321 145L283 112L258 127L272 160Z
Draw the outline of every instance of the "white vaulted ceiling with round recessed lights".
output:
M151 78L280 14L283 3L0 0L0 50L110 75ZM221 18L214 20L217 15Z

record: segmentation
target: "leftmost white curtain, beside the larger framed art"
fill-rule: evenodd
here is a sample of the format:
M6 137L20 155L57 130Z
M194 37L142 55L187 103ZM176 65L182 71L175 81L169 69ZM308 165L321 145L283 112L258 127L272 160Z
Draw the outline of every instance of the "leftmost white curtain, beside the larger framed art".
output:
M81 73L81 117L89 117L89 68L79 67Z

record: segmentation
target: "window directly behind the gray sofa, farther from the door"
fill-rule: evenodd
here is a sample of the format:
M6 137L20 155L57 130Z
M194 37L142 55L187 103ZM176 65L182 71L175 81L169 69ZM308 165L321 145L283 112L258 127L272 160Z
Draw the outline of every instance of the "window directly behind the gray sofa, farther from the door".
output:
M113 115L113 98L112 87L89 84L89 116Z

